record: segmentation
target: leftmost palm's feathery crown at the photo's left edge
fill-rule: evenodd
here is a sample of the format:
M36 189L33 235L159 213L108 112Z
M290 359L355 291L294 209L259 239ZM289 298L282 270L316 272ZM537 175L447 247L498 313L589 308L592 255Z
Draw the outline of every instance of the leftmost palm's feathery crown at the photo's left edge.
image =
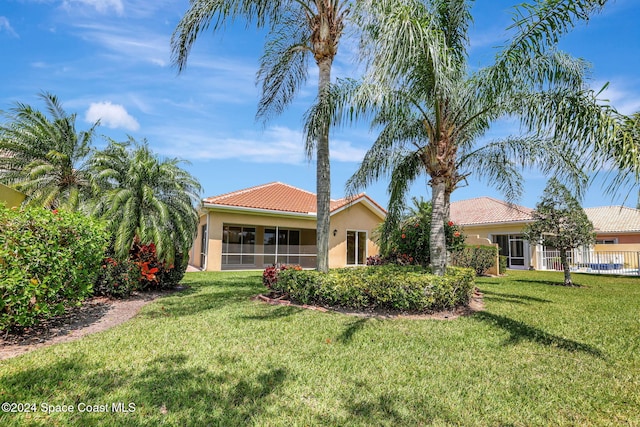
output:
M16 103L0 126L0 181L27 195L29 205L78 209L90 197L87 161L95 128L77 132L76 114L58 98L41 93L50 118Z

